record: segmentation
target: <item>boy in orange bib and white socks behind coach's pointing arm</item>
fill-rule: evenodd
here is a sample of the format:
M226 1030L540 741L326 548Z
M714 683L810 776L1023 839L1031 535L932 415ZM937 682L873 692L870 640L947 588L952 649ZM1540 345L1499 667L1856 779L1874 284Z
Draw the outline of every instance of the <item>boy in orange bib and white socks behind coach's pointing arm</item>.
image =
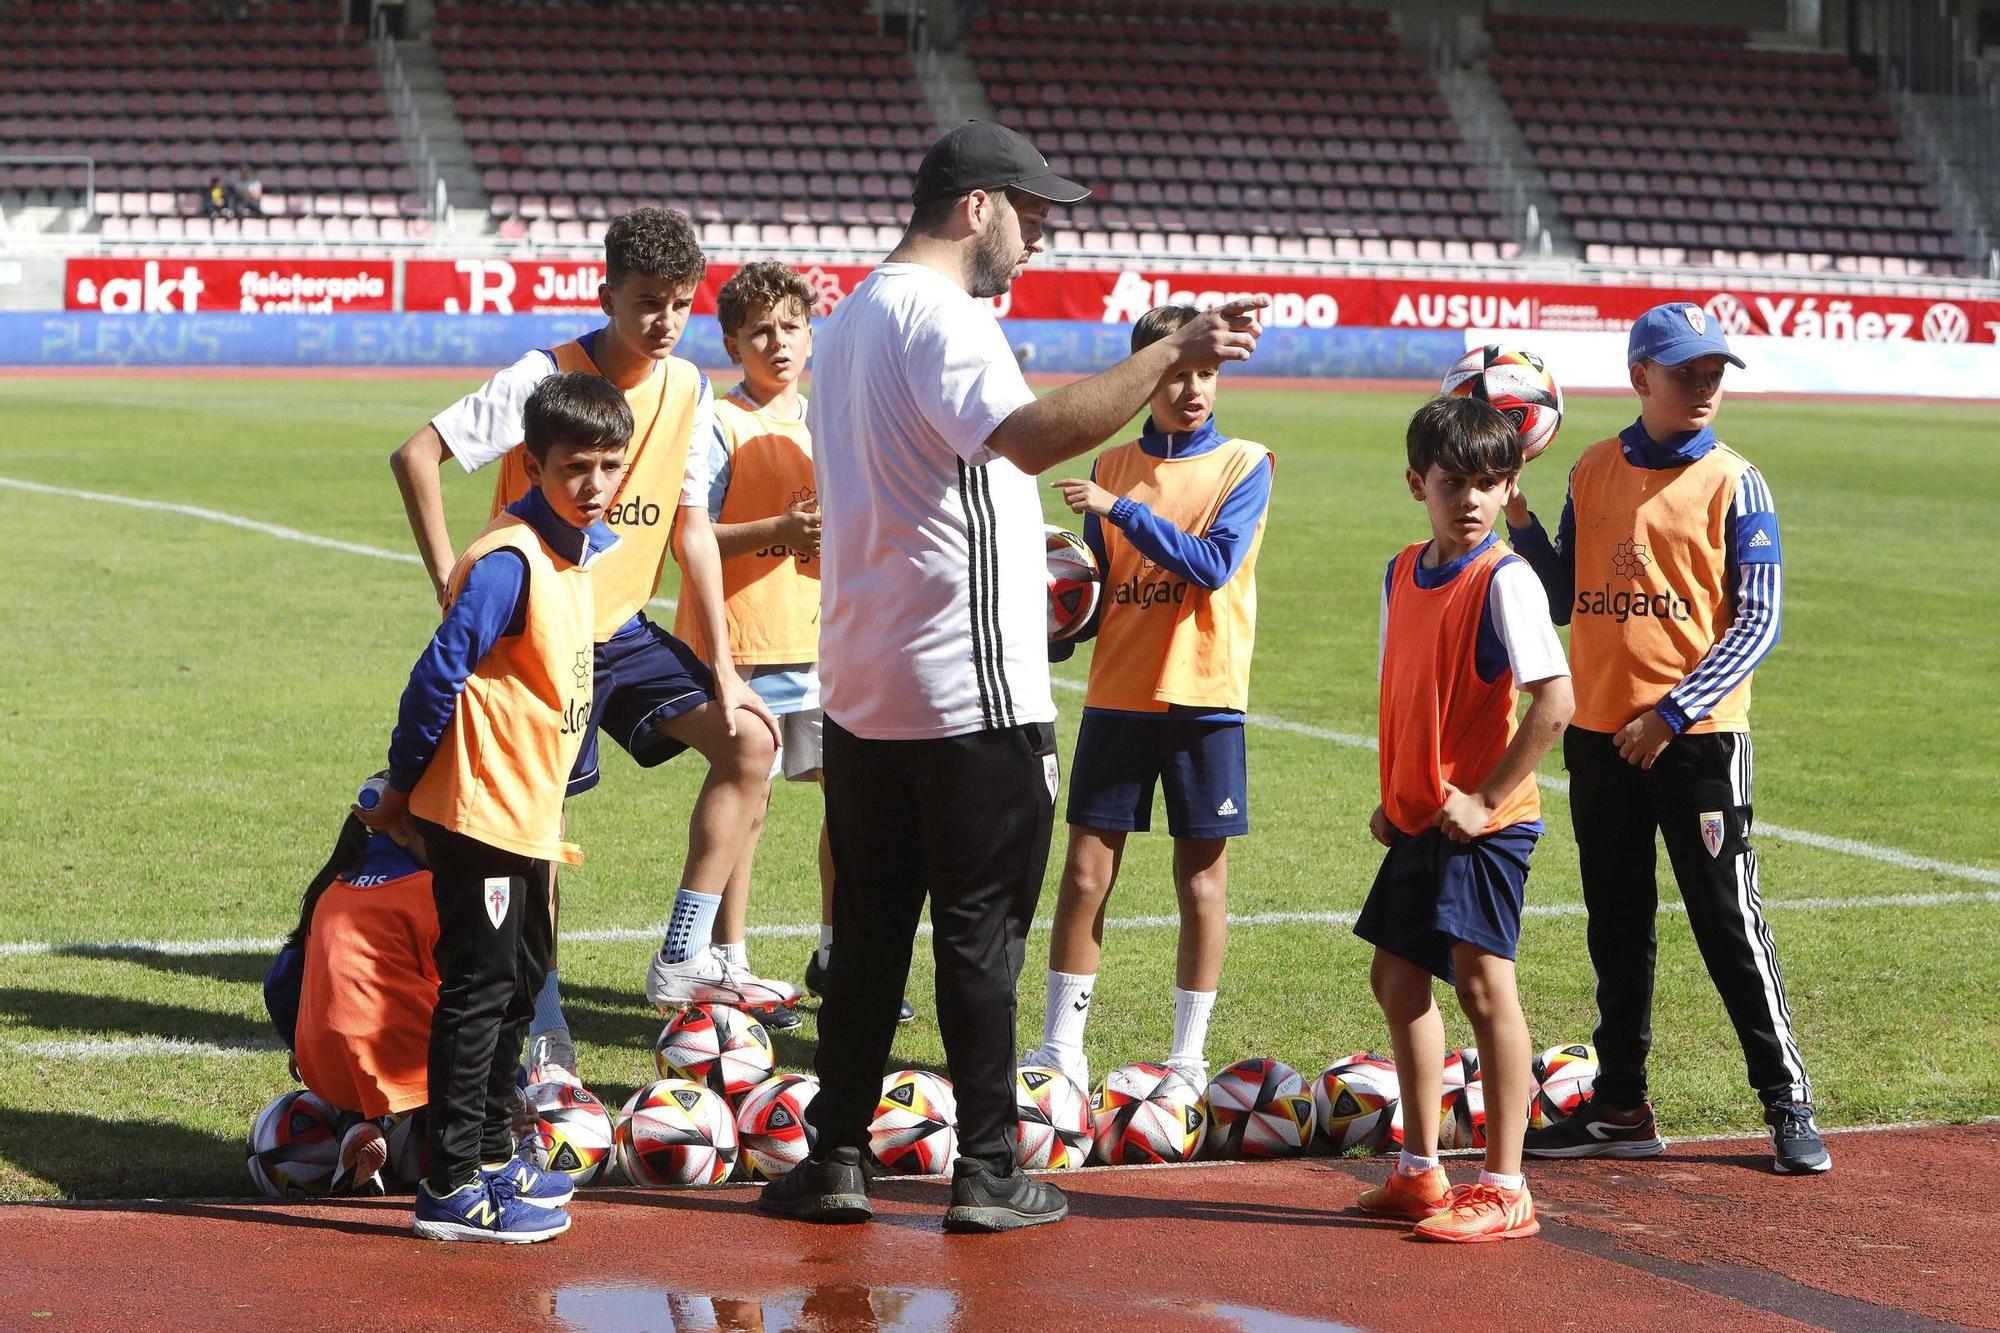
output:
M1132 326L1132 350L1196 318L1192 306L1148 310ZM1152 823L1156 783L1166 789L1180 899L1166 1063L1198 1093L1208 1087L1208 1017L1228 935L1228 839L1250 831L1244 709L1274 470L1268 448L1216 428L1216 378L1206 366L1164 380L1140 438L1098 454L1092 480L1056 482L1084 514L1104 596L1070 767L1070 849L1048 945L1042 1047L1028 1063L1060 1069L1084 1089L1104 905L1126 837Z

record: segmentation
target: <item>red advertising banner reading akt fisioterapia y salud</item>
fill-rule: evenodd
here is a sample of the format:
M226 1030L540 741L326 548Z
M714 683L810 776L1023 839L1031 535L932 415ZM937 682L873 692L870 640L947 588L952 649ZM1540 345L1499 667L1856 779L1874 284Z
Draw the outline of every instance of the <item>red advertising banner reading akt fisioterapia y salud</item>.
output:
M396 260L72 258L62 306L106 314L394 310Z

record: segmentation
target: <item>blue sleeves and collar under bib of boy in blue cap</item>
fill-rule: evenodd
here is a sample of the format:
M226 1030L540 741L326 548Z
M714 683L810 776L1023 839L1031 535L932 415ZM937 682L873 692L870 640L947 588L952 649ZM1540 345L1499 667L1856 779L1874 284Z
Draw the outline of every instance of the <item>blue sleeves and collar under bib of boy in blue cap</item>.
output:
M1642 420L1618 432L1618 448L1626 462L1638 468L1682 468L1716 446L1716 432L1684 430L1654 440ZM1782 628L1784 560L1778 542L1778 506L1770 486L1756 468L1746 466L1730 496L1730 520L1724 526L1724 578L1736 588L1736 614L1714 646L1694 664L1680 685L1670 689L1654 709L1680 735L1708 717L1722 699L1742 685L1774 646ZM1528 526L1508 524L1508 542L1548 590L1548 614L1556 624L1570 622L1576 602L1576 502L1566 494L1556 538L1548 538L1542 520L1528 514Z

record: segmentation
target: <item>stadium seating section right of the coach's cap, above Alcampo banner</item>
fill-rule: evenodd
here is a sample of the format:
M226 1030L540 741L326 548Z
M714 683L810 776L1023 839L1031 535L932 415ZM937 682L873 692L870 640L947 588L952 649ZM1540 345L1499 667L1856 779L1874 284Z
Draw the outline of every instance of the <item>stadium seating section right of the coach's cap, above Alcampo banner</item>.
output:
M972 24L968 50L1000 120L1092 186L1066 214L1084 248L1518 252L1430 68L1380 10L1014 0Z

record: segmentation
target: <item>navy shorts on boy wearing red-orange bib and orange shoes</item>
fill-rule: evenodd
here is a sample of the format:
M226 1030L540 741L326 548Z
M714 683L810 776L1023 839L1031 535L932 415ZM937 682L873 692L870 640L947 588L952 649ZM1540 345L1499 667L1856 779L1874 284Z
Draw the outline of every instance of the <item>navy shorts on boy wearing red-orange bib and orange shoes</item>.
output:
M1540 825L1514 825L1472 843L1454 843L1436 829L1414 839L1396 835L1354 933L1446 983L1456 981L1458 941L1512 959L1528 853L1540 837Z

